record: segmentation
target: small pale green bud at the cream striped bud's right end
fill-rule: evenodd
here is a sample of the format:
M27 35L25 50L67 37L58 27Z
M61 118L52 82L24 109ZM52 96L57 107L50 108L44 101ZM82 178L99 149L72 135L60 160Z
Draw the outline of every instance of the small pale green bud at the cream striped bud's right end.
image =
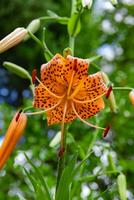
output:
M40 28L40 20L34 19L27 26L26 30L34 34L39 30L39 28ZM28 40L29 38L30 38L30 36L27 34L26 37L24 38L24 41Z

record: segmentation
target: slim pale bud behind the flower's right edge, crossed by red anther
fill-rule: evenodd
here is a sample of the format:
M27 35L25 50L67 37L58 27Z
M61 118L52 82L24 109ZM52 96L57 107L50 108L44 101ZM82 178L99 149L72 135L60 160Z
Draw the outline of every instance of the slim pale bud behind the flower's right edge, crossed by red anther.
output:
M103 81L106 85L109 85L110 84L110 80L107 76L106 73L104 72L101 72L102 74L102 78L103 78ZM115 100L115 96L114 96L114 93L113 91L111 91L112 88L110 88L110 94L109 94L109 98L108 98L108 101L109 101L109 104L110 104L110 109L112 112L114 113L117 113L117 105L116 105L116 100Z

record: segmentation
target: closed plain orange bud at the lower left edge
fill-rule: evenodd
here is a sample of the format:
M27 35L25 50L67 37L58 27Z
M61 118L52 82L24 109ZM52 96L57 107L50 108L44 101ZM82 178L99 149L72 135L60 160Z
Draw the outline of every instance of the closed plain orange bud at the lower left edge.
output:
M0 147L0 169L3 167L18 140L20 139L26 127L26 123L27 116L24 113L18 112L13 117L6 132L4 141Z

